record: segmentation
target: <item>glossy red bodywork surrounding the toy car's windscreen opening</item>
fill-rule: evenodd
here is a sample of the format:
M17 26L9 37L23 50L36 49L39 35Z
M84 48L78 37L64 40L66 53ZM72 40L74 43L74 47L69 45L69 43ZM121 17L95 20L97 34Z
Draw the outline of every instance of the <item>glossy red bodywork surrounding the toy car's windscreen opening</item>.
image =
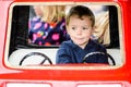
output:
M39 2L117 2L122 8L122 32L126 52L126 63L118 69L111 70L22 70L8 67L4 60L5 35L8 27L8 11L11 3L14 2L36 2L34 0L1 0L0 1L0 86L8 82L46 82L55 84L53 87L75 87L74 83L87 82L120 82L123 87L131 85L131 5L130 0L38 0ZM53 65L57 66L57 65ZM53 67L52 66L52 67ZM63 80L63 82L61 82ZM61 82L61 83L60 83ZM128 83L128 85L127 85ZM95 84L95 83L94 83ZM97 84L97 83L96 83ZM63 86L62 86L63 85Z

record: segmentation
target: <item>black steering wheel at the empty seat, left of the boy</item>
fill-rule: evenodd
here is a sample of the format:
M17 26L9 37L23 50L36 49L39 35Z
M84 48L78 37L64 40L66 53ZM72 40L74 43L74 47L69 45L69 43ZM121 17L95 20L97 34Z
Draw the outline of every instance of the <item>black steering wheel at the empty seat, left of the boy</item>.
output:
M40 52L31 52L31 53L27 53L26 55L24 55L24 58L20 61L20 65L23 64L23 62L28 58L28 57L32 57L32 55L40 55L44 58L44 60L39 63L39 65L41 65L43 63L45 63L46 61L49 62L49 64L52 64L51 60L44 53L40 53Z

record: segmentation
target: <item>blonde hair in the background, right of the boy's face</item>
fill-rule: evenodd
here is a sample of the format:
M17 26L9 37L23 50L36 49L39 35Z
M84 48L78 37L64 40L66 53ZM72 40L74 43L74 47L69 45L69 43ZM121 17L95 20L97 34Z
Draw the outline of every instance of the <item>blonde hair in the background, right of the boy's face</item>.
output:
M108 46L110 44L108 12L104 12L100 13L100 15L97 15L93 35L96 36L98 41L103 45Z

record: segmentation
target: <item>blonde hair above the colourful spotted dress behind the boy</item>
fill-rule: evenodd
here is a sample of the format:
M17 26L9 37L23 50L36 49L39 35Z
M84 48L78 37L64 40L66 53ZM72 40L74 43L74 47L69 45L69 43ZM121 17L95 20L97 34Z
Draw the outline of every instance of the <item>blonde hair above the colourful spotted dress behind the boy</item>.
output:
M63 5L40 5L43 11L41 21L48 23L57 23L60 17L64 16L64 7Z

